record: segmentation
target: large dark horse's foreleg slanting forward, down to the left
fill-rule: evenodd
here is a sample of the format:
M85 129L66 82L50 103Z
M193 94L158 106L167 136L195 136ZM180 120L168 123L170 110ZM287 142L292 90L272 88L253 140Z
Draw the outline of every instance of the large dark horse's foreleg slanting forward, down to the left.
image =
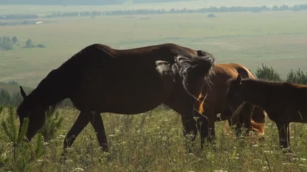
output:
M89 123L88 116L84 112L80 112L77 120L75 121L72 128L69 130L68 134L64 139L64 152L62 155L66 154L66 148L70 147L75 141L79 133L84 129L84 127Z

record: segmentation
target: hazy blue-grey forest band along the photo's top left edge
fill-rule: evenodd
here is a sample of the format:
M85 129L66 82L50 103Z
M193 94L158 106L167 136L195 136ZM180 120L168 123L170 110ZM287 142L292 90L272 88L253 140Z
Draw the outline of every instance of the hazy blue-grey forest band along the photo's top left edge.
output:
M0 0L0 4L20 4L20 5L112 5L123 4L126 2L133 3L162 3L162 2L179 2L189 0Z

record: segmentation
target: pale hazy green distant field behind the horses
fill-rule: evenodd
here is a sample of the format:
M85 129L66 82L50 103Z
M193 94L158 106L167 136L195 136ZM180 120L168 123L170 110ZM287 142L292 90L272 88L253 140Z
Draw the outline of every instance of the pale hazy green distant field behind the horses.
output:
M2 7L2 6L1 6ZM1 11L1 10L0 10ZM286 77L307 71L307 12L167 14L40 19L39 25L0 27L0 36L31 38L46 48L0 51L0 81L35 85L87 45L114 48L177 43L213 53L220 63L242 63L254 72L261 63Z

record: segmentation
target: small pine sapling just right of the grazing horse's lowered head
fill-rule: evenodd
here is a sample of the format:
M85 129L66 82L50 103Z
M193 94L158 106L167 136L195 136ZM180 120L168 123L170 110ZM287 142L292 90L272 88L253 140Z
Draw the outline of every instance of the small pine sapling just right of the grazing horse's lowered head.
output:
M59 117L59 112L56 112L55 115L47 112L45 116L45 123L38 133L41 133L44 136L44 141L48 142L56 136L56 132L61 127L64 118Z

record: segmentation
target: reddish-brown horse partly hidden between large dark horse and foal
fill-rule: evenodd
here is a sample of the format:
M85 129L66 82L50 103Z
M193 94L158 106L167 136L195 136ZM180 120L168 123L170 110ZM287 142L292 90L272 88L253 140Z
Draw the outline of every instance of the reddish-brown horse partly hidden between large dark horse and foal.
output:
M226 104L226 93L229 86L228 80L235 79L240 74L243 78L254 79L252 73L243 65L229 63L216 64L210 76L211 84L205 84L202 89L202 96L206 97L202 105L204 112L202 113L209 119L209 128L211 136L215 137L215 122L228 120L231 126L236 126L236 134L239 135L240 129L245 127L250 128L258 133L263 134L265 130L265 112L252 104L244 104L241 112L238 115L232 116L233 112L229 107L224 107ZM240 100L232 100L235 106L242 104ZM203 110L200 110L202 112ZM224 112L224 113L223 113ZM217 114L220 114L217 116Z

